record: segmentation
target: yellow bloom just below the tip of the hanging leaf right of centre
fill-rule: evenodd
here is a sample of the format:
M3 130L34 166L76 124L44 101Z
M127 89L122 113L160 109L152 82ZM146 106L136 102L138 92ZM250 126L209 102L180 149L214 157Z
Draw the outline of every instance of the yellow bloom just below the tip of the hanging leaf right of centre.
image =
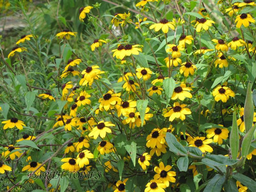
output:
M173 121L175 118L180 118L180 120L186 119L185 115L191 114L189 108L185 108L187 105L175 102L173 108L170 111L164 114L164 117L169 117L169 121Z

